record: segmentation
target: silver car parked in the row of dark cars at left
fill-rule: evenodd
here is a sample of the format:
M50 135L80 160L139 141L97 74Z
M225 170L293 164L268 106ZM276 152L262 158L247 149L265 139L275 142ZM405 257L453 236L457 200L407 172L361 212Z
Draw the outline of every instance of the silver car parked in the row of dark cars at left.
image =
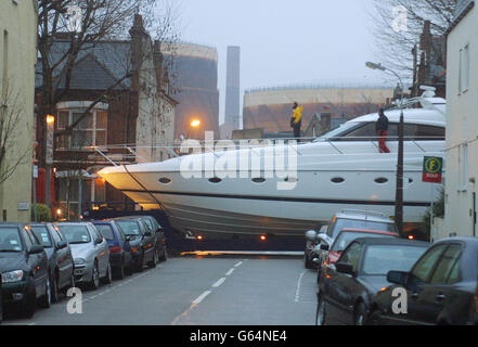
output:
M106 240L91 222L59 222L56 226L72 247L75 283L98 290L112 283L109 249Z

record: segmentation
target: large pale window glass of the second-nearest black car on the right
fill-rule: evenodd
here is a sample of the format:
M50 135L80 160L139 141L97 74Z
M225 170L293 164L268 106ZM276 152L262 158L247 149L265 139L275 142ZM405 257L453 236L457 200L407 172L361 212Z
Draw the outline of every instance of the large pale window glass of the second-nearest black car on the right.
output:
M410 271L427 247L412 245L370 245L363 259L363 272L386 275L388 271Z

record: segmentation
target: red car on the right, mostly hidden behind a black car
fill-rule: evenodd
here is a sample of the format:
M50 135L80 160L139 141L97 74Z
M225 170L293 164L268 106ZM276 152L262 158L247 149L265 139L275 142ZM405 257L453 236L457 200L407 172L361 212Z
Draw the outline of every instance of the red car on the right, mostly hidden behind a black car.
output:
M398 233L382 231L382 230L366 230L366 229L343 229L338 233L332 246L327 244L321 244L321 253L318 253L318 257L313 259L318 269L327 266L328 264L335 264L340 258L345 248L356 239L360 237L399 237ZM318 271L316 281L320 281L320 271Z

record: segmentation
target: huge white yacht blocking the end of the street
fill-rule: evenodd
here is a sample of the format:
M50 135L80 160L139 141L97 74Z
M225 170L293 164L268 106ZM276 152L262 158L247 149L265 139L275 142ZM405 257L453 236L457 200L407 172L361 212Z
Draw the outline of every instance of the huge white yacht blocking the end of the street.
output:
M403 111L405 223L421 222L438 196L437 184L422 182L424 156L444 156L445 101L426 92L409 104L417 102L422 107ZM378 151L378 115L371 114L286 145L282 157L284 147L248 147L106 167L99 175L145 209L163 208L190 236L303 235L344 208L393 216L400 111L385 114L389 154Z

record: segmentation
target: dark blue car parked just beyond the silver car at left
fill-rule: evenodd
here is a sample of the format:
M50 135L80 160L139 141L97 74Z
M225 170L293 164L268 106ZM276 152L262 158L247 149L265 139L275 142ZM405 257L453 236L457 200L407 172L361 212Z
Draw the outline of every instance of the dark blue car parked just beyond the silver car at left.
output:
M106 239L109 247L109 264L115 278L122 280L125 274L133 270L130 236L125 235L115 220L92 221L101 234Z

